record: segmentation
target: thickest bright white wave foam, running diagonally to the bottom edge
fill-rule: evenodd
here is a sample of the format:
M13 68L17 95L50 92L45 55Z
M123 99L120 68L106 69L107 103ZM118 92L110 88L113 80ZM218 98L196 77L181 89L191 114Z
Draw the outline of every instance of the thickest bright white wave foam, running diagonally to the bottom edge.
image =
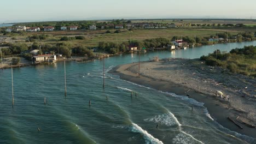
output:
M134 133L140 133L144 136L144 139L146 143L152 143L152 144L164 144L162 141L156 139L154 136L150 135L146 130L139 127L137 124L132 123L131 131Z

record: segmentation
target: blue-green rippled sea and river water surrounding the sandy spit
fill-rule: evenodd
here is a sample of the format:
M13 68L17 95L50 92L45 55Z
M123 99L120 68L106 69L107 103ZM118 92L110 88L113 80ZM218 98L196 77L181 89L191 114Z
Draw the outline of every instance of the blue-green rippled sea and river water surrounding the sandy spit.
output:
M217 48L229 51L245 45L256 45L256 41L148 52L141 61L154 56L199 58ZM106 67L137 61L137 54L110 57ZM0 71L0 143L255 143L252 137L223 128L202 103L182 95L111 74L105 75L103 89L102 66L102 61L66 62L66 98L63 62L15 68L14 108L11 70ZM131 97L131 91L137 97Z

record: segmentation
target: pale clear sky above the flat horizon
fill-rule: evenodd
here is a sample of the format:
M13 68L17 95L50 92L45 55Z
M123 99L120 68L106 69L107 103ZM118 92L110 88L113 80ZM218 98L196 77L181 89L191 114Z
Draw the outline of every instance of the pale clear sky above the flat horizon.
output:
M1 0L0 23L106 19L256 19L255 0Z

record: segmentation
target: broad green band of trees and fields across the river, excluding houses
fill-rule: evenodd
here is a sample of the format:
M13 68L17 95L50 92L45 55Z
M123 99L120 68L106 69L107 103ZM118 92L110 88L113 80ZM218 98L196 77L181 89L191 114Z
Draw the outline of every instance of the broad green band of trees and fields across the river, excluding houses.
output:
M143 22L143 23L141 23ZM146 24L145 24L146 23ZM169 25L176 28L167 28ZM103 21L59 21L17 23L28 27L54 26L53 32L11 32L0 28L4 37L4 56L19 55L38 49L39 53L61 53L63 56L89 56L88 50L100 52L127 52L129 46L158 48L183 39L189 45L211 45L216 43L255 40L256 25L251 20L199 20L199 19L155 19L155 20L103 20ZM104 30L87 31L90 25ZM114 29L123 25L124 29ZM131 26L134 25L134 26ZM150 25L150 26L149 26ZM61 26L78 26L78 31L57 31ZM146 28L146 27L151 28ZM15 27L15 26L13 26ZM126 29L127 27L127 29ZM158 27L158 28L156 28ZM161 27L161 28L160 28ZM208 41L210 38L224 38L228 41ZM63 42L63 43L60 43ZM104 41L104 42L102 42ZM6 46L6 47L5 47ZM7 48L9 47L9 48ZM79 48L77 47L84 47ZM86 49L85 49L86 48ZM86 51L86 52L85 52ZM81 53L80 53L81 52ZM88 54L89 53L89 54ZM24 56L25 58L28 56Z

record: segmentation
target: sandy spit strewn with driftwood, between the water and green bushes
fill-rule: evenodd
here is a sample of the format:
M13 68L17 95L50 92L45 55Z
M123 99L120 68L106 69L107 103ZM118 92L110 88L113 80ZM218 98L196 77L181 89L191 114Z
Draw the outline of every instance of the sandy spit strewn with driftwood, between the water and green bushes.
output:
M142 62L140 77L138 63L120 65L109 73L139 85L152 87L163 92L189 95L204 103L214 121L237 133L256 138L256 129L238 123L243 129L230 122L227 117L243 119L256 124L255 80L250 77L229 74L221 68L209 67L197 59L162 59L159 62ZM216 98L215 92L229 94L230 100ZM187 92L187 93L186 93ZM184 96L187 97L187 96Z

